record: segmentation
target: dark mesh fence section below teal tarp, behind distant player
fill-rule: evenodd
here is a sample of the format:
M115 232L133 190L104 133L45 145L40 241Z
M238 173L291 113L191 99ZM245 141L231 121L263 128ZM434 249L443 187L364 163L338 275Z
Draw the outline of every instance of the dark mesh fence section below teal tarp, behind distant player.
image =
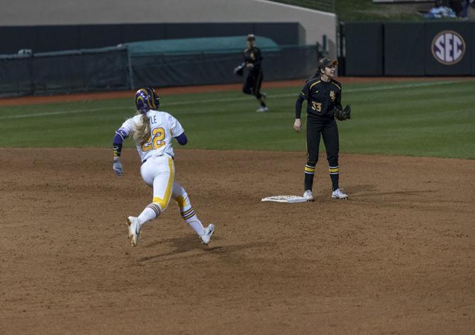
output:
M315 45L261 50L266 81L307 78L315 72L319 57ZM245 77L235 75L233 69L242 61L242 50L182 55L129 55L130 84L131 88L137 89L141 86L239 83Z

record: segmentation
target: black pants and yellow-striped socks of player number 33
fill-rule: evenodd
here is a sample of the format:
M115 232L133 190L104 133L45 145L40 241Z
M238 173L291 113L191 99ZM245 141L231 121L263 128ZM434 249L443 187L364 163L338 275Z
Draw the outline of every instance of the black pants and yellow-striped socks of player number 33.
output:
M338 166L338 152L340 151L338 127L334 118L320 116L308 116L306 121L307 164L305 166L304 190L311 190L313 187L320 137L323 137L323 144L325 144L327 151L328 172L330 173L333 191L335 191L338 188L338 177L340 175L340 166Z

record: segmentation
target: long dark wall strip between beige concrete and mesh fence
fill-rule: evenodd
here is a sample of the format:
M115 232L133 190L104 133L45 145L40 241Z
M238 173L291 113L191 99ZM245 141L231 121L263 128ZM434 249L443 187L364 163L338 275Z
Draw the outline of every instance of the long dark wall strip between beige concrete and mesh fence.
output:
M41 25L0 27L0 55L18 50L55 52L110 47L144 40L245 36L265 36L279 45L303 45L305 30L299 23L123 23L106 25ZM262 47L259 38L257 46ZM207 49L206 44L202 45Z

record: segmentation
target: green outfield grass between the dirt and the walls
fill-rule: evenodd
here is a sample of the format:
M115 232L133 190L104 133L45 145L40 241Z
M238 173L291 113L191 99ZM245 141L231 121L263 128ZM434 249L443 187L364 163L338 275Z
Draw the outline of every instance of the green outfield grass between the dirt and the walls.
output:
M352 119L338 123L340 152L475 159L474 88L457 79L345 85ZM269 113L239 91L163 96L160 109L180 120L188 149L305 151L292 129L300 89L265 90ZM133 97L0 107L0 147L111 147L133 107Z

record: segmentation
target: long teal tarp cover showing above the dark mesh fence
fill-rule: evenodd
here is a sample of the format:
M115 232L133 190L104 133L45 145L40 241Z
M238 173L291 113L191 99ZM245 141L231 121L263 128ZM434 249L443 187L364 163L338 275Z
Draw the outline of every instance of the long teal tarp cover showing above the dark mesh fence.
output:
M130 55L162 54L179 55L202 52L242 51L246 47L247 36L227 36L218 38L181 38L179 40L148 40L125 43ZM279 50L279 45L270 38L256 36L257 46L267 50Z

